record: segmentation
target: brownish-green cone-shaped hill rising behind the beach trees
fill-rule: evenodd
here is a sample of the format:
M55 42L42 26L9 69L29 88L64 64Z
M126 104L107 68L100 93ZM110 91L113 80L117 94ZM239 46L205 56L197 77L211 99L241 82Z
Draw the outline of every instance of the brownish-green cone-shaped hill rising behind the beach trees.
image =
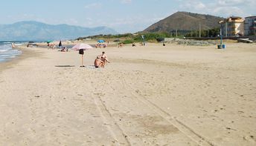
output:
M208 30L215 27L220 27L219 21L221 17L210 16L190 12L177 12L168 16L166 19L156 22L147 27L144 33L167 32L171 30L199 30L199 24L202 30Z

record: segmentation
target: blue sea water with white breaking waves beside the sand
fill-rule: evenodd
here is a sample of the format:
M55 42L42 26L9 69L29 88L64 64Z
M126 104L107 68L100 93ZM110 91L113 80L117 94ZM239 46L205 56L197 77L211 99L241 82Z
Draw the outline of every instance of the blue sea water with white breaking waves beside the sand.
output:
M14 42L1 42L0 41L0 62L9 62L11 59L19 56L22 53L21 50L13 49L12 43ZM15 42L16 46L22 44L22 42Z

